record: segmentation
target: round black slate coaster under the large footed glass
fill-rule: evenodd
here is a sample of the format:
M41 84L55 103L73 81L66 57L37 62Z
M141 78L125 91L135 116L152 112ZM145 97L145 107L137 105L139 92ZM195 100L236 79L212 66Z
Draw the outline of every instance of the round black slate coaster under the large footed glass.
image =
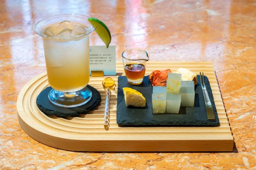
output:
M82 106L69 108L55 106L48 100L48 93L50 92L50 90L52 90L52 87L47 87L42 92L40 92L40 94L36 98L36 105L45 114L55 115L58 117L74 117L80 114L86 114L87 112L98 106L101 101L100 93L98 92L98 90L90 85L87 85L86 87L88 87L92 91L92 99Z

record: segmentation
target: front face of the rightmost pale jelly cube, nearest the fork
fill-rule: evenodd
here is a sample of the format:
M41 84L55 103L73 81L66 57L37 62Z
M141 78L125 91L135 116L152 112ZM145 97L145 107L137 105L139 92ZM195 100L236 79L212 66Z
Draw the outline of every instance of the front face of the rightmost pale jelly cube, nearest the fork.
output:
M195 103L195 90L194 88L182 88L181 93L181 106L194 107Z

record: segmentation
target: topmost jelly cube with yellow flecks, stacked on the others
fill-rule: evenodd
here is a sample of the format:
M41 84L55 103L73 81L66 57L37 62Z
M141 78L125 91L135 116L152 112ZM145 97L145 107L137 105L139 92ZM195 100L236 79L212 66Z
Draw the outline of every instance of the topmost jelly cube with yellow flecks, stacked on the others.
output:
M168 93L179 93L181 85L181 74L168 73L166 89Z

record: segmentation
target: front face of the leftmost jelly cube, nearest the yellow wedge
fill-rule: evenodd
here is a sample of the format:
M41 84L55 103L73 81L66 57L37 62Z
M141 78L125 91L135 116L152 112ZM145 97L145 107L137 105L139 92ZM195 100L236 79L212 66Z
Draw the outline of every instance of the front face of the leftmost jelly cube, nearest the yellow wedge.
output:
M166 93L153 93L152 106L153 106L153 113L165 113Z

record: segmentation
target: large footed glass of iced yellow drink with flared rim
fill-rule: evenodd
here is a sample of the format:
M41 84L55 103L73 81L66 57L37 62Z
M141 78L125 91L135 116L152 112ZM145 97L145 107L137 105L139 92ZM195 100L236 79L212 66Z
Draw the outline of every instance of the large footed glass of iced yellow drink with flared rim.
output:
M92 98L92 92L86 85L90 79L89 37L95 28L87 18L76 14L57 15L43 19L34 26L34 31L43 38L48 82L53 88L48 99L56 106L81 106ZM59 28L52 27L63 21L71 26L72 23L78 24L78 28L71 27L60 32ZM85 32L74 36L79 26L84 26ZM60 33L46 36L44 32L48 27L52 32L57 30Z

